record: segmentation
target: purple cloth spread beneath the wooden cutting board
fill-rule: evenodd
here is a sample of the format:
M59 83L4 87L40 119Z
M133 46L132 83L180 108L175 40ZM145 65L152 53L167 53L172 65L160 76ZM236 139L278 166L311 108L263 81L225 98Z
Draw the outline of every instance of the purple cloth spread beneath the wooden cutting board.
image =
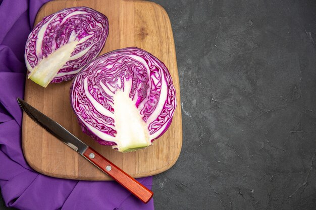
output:
M21 149L26 67L24 46L47 0L0 0L0 186L7 206L19 209L153 209L113 181L77 181L32 170ZM138 179L151 188L152 177Z

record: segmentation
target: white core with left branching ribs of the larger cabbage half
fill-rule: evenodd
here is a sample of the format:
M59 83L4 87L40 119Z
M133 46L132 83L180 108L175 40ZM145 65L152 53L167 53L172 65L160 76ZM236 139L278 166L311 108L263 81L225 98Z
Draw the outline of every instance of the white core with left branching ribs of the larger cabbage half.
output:
M124 90L114 90L115 94L110 93L111 91L104 84L101 83L101 86L104 91L113 95L113 103L111 105L114 108L114 113L104 108L93 98L88 89L87 79L83 81L86 97L95 110L104 116L114 119L114 127L108 126L116 130L116 136L104 134L88 123L85 123L85 125L101 139L107 139L107 141L116 143L117 145L113 146L113 148L118 149L120 152L129 152L151 145L152 138L149 135L148 124L142 119L140 109L137 109L135 106L137 98L132 100L129 97L132 88L131 80L124 80ZM78 117L84 122L80 115Z

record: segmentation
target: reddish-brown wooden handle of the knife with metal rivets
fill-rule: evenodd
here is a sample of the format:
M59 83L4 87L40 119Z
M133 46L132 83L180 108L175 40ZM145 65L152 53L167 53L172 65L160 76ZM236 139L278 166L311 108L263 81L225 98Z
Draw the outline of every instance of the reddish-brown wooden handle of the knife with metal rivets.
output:
M128 191L138 197L144 203L147 203L153 196L153 192L139 183L136 179L125 173L122 169L114 165L111 161L104 158L98 152L88 147L83 156L92 162L101 171L111 176L119 182Z

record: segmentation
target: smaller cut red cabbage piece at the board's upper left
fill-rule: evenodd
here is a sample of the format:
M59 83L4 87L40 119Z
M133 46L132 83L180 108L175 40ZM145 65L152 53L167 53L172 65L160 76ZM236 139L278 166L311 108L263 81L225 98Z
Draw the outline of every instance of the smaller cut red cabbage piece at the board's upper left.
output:
M100 53L108 33L108 18L91 8L68 8L43 18L26 42L28 78L43 87L71 80Z

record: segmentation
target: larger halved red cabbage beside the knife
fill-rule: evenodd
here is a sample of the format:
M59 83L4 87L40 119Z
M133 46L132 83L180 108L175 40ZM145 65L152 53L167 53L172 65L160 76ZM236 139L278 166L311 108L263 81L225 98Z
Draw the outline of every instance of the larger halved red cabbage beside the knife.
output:
M165 64L136 47L92 60L70 93L82 130L120 152L151 145L168 129L177 105Z

